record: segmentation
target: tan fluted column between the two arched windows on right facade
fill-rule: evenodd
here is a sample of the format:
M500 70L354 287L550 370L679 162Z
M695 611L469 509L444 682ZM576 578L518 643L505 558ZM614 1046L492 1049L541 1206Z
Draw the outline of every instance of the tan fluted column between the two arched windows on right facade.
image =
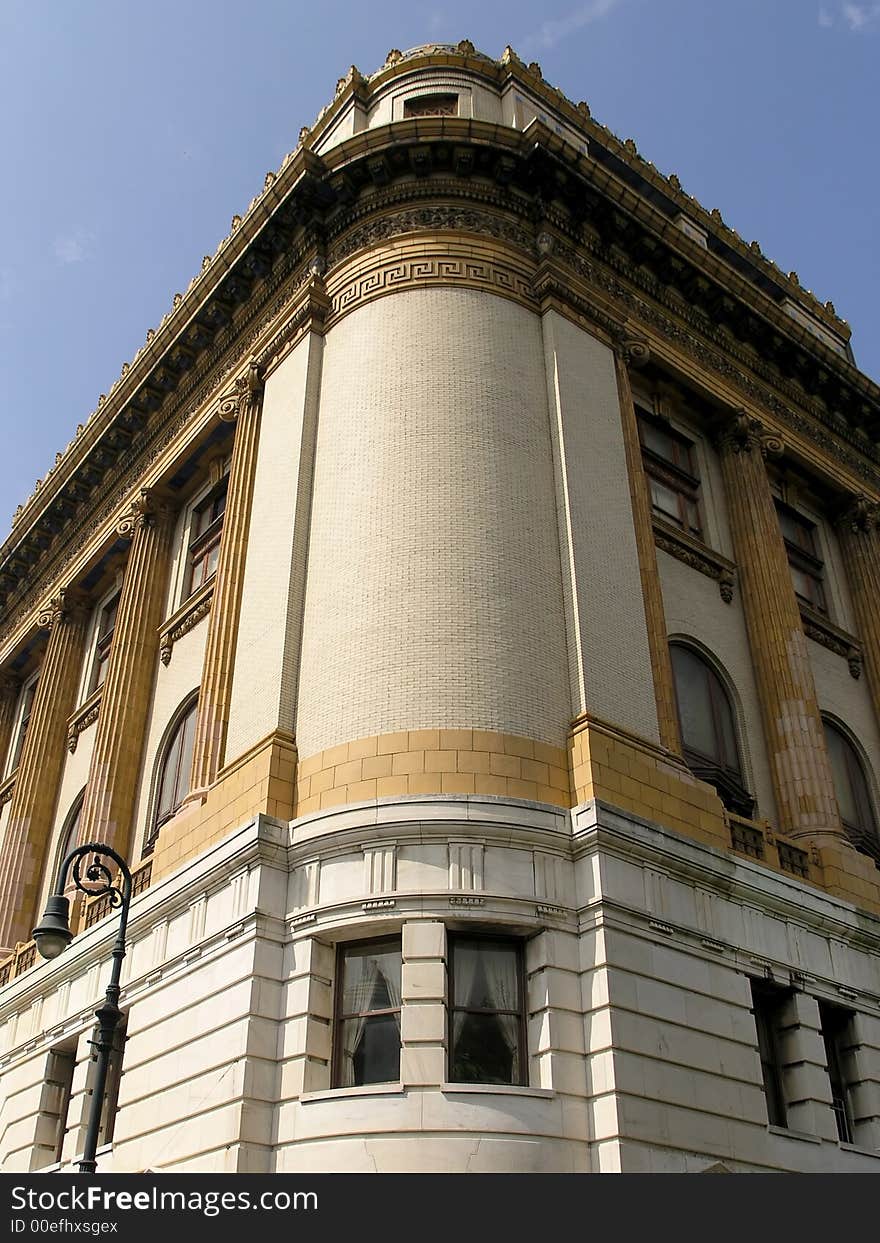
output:
M841 835L807 640L764 466L764 455L782 445L741 411L718 447L779 828L794 838Z

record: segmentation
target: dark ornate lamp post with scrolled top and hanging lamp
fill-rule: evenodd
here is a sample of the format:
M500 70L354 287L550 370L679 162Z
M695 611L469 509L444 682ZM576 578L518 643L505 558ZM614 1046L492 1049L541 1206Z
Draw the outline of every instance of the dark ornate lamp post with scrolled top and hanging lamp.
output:
M92 861L86 868L83 878L82 864L88 855L92 855ZM102 861L104 858L112 859L118 866L122 888L119 888L118 883L113 884L113 875L107 864ZM126 927L128 924L128 906L132 900L132 874L128 870L126 860L119 858L111 846L103 845L99 842L89 842L71 850L58 869L55 892L50 895L46 902L42 920L34 929L34 940L37 951L44 958L57 958L73 940L68 922L70 902L65 897L65 881L71 866L73 884L82 894L88 894L93 897L106 895L109 899L111 906L119 907L119 931L113 943L111 982L107 986L103 1004L94 1012L94 1017L98 1021L98 1038L92 1043L97 1050L97 1070L92 1104L88 1112L86 1145L82 1160L80 1161L80 1173L94 1173L97 1168L94 1152L98 1146L107 1070L109 1068L111 1053L113 1052L113 1037L122 1018L122 1011L117 1003L119 1001L119 972L122 971L122 960L126 957Z

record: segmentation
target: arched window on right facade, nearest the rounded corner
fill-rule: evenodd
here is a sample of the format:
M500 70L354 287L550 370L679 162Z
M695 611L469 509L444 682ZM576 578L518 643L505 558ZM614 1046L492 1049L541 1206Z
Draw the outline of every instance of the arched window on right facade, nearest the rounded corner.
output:
M685 759L696 777L715 787L725 807L751 817L754 799L743 781L730 695L715 669L692 648L674 643L670 655Z

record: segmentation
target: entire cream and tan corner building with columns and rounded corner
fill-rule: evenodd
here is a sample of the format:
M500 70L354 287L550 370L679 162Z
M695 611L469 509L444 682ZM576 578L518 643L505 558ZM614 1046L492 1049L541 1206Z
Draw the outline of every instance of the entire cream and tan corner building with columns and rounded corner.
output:
M0 548L0 1152L880 1168L880 389L510 50L355 68ZM114 1127L113 1127L114 1119Z

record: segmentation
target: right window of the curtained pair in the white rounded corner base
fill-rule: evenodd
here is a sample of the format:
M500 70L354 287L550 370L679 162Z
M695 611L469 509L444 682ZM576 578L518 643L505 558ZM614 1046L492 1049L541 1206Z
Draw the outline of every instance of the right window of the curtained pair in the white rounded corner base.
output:
M528 1083L520 941L450 938L451 1083Z

